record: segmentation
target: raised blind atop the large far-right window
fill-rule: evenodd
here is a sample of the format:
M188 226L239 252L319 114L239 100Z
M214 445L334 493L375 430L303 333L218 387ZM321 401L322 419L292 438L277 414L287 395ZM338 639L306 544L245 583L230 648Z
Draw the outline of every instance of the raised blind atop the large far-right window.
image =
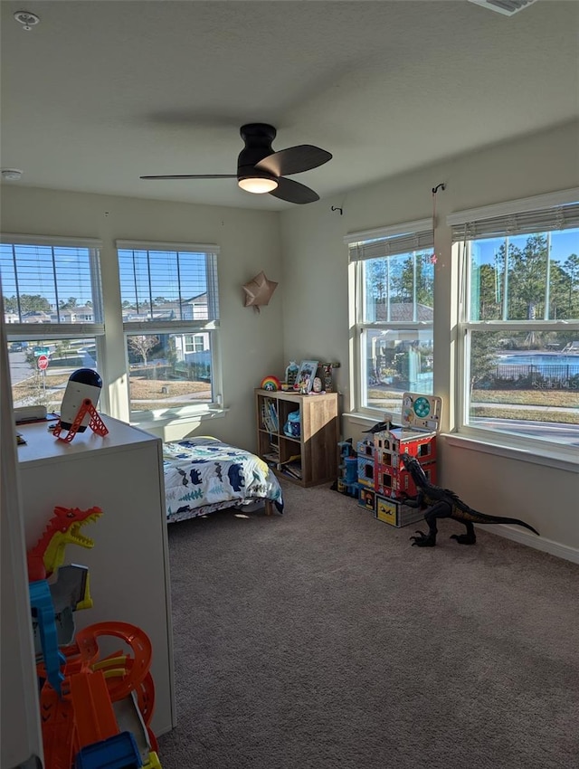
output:
M579 195L577 199L579 200ZM489 206L488 210L478 209L452 214L447 220L451 225L452 242L546 233L579 227L579 203L577 202L522 211L516 210L517 201L512 205L515 210L508 211L508 204L504 204L506 210L502 214L496 213L497 206Z

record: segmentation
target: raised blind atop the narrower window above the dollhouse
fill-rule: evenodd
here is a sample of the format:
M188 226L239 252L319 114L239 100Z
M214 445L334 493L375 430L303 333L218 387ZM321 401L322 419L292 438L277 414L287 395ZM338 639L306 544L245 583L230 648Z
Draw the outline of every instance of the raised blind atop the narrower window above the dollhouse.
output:
M380 259L398 253L426 251L434 246L431 219L394 224L380 230L351 233L344 238L350 261Z

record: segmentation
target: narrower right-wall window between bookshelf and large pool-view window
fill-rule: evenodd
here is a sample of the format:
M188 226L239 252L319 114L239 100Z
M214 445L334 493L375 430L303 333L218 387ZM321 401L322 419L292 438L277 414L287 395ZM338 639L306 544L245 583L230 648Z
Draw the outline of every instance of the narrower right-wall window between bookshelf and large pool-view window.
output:
M356 410L402 411L406 391L432 394L432 220L346 236L354 308ZM374 413L373 413L374 412Z

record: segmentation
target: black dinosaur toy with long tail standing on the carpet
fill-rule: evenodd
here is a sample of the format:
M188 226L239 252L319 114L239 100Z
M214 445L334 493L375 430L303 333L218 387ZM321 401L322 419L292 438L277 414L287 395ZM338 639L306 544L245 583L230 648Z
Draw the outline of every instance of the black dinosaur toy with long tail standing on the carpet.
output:
M417 531L416 534L419 536L410 537L413 539L413 545L419 547L433 547L436 545L436 535L438 533L436 521L438 518L452 518L455 521L460 521L460 523L467 527L466 534L451 535L451 539L456 539L460 545L475 544L477 541L473 526L475 523L516 524L517 526L524 526L535 532L537 536L540 536L535 528L529 526L525 521L518 520L518 518L487 516L484 513L479 513L478 510L473 510L451 489L441 489L440 486L434 486L426 477L420 462L415 457L403 453L400 455L400 459L406 470L411 474L418 490L416 497L404 497L403 504L408 505L410 508L422 508L424 510L424 520L428 524L428 534Z

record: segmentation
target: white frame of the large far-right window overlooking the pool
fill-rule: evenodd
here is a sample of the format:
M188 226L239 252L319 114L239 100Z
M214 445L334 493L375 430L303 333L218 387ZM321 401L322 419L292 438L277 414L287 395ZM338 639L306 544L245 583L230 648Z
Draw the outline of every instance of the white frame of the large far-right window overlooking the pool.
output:
M523 452L527 456L556 458L561 457L571 465L579 467L579 456L576 447L563 446L555 441L541 440L533 436L519 435L506 431L495 431L479 427L469 423L470 394L469 377L467 371L470 364L470 332L473 330L518 332L527 330L553 331L576 330L579 333L579 320L489 320L470 321L470 240L460 240L459 230L470 233L470 239L476 240L477 236L492 236L493 230L501 232L505 226L505 219L509 219L507 226L517 233L517 215L519 220L526 223L534 220L540 223L536 232L546 232L547 229L559 231L555 223L548 223L548 212L552 212L556 220L557 215L562 216L557 209L565 204L573 204L579 201L579 187L562 190L546 195L521 198L500 204L492 204L480 208L456 212L447 217L447 224L453 230L452 259L457 260L460 271L460 297L459 297L459 322L457 333L457 360L456 360L456 393L457 393L457 422L454 434L459 438L477 441L489 447L497 447L499 450ZM562 220L561 220L562 221ZM576 225L575 225L576 226ZM560 229L564 229L561 227ZM524 230L522 231L524 232ZM486 233L485 235L480 233ZM490 234L489 234L490 233Z

